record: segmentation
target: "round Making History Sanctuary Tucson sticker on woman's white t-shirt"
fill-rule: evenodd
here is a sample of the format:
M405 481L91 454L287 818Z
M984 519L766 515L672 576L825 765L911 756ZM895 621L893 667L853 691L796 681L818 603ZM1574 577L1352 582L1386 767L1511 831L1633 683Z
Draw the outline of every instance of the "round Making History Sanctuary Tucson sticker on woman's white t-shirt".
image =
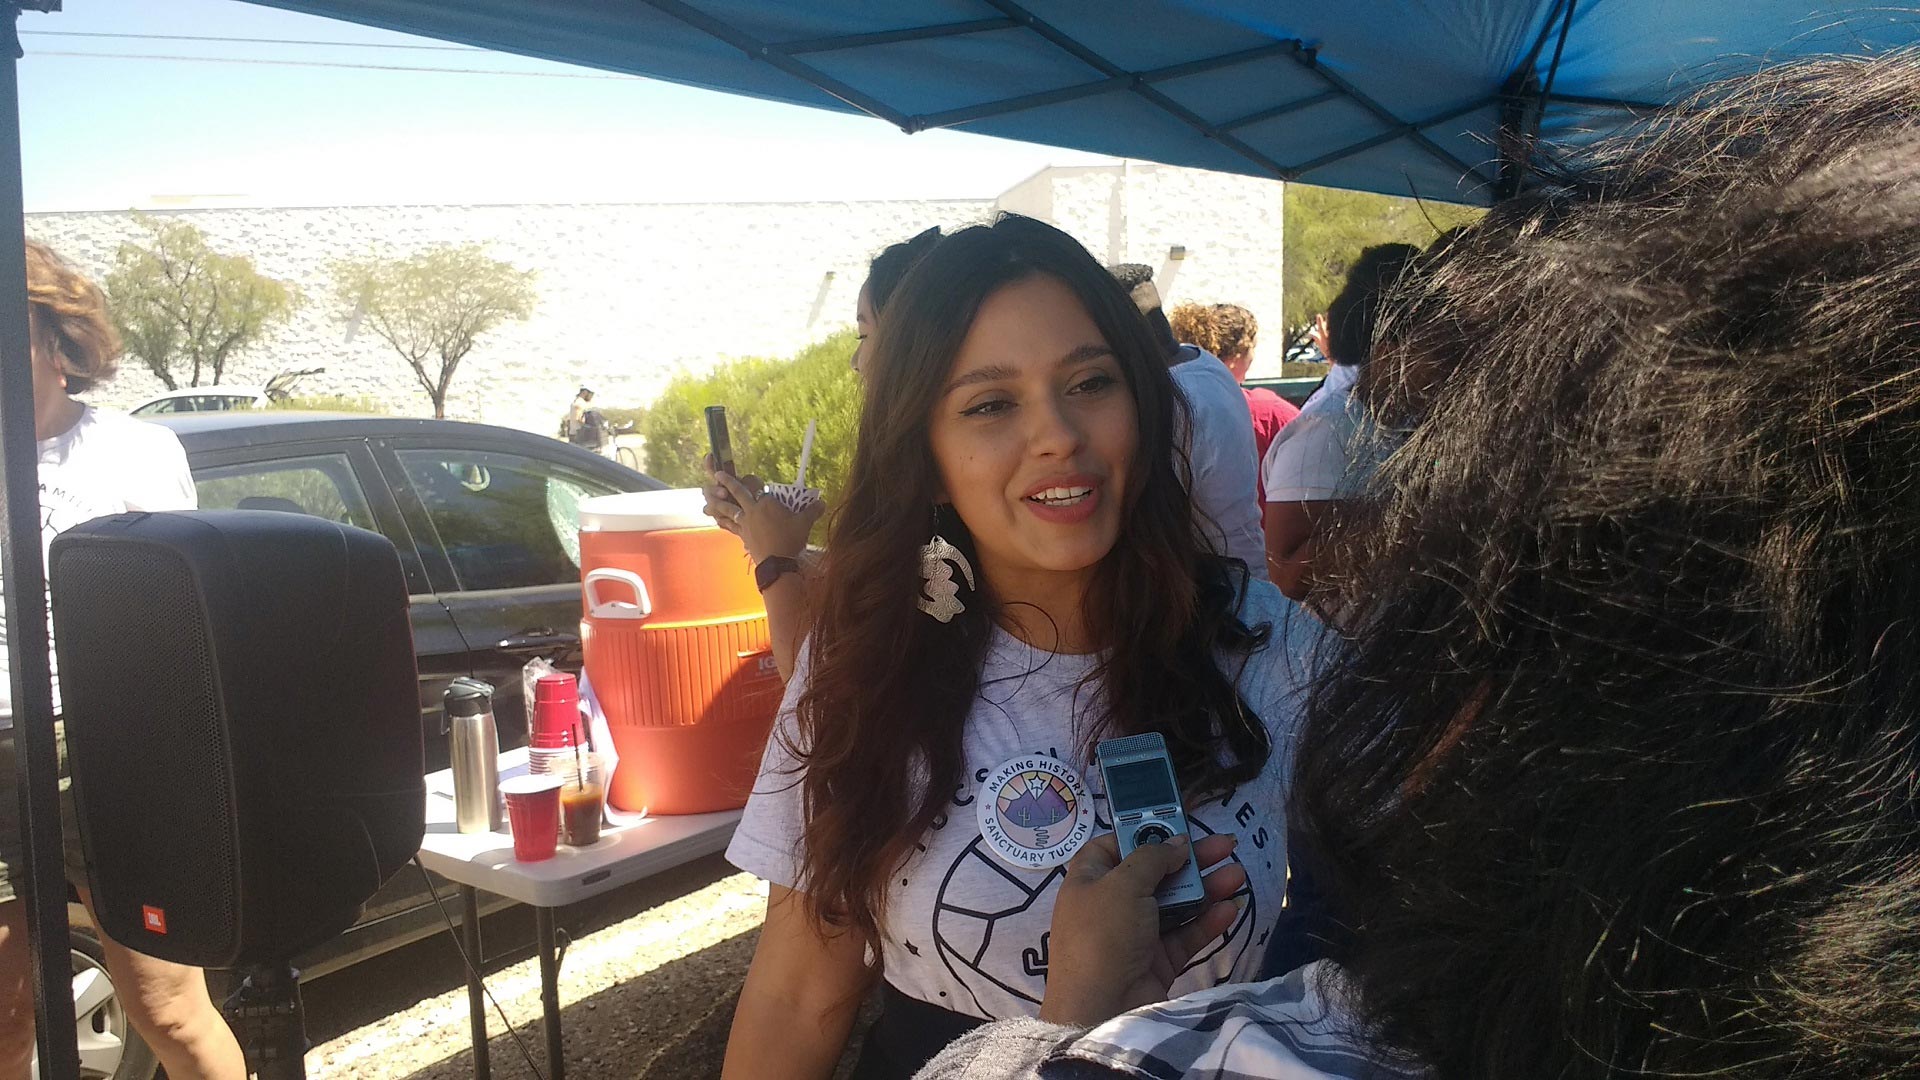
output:
M1044 753L1002 763L979 786L979 834L1008 863L1044 871L1092 836L1092 799L1079 773Z

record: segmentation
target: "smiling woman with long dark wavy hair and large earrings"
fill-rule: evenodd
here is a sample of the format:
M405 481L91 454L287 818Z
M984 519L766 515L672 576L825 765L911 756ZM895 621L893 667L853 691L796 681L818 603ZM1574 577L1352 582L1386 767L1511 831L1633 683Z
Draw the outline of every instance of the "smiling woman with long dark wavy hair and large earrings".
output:
M799 671L728 855L772 882L728 1076L860 1076L1039 1009L1066 861L1110 828L1100 738L1160 732L1188 830L1238 832L1177 986L1248 978L1286 874L1290 607L1204 546L1181 400L1068 234L960 231L893 294ZM1169 972L1173 976L1175 972Z

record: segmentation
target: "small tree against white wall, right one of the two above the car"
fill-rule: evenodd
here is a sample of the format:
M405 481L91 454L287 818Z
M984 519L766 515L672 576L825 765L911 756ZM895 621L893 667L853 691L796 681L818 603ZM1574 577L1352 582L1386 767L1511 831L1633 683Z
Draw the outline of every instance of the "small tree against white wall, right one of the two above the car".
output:
M334 263L340 302L394 346L447 417L453 373L482 334L534 313L534 271L515 269L480 244L440 244L405 259Z

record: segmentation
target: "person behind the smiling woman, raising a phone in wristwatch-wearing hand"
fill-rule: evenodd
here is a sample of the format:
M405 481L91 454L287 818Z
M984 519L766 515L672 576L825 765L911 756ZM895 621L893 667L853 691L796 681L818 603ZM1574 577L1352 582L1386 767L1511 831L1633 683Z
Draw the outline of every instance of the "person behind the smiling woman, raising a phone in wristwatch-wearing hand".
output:
M854 331L858 346L852 350L852 369L862 371L868 340L879 327L879 313L900 286L906 271L914 269L941 238L939 225L914 234L912 240L889 244L874 256L868 265L866 282L860 284L860 298L854 306ZM793 678L793 657L801 648L801 628L808 611L808 594L818 567L810 567L806 538L814 523L828 511L826 502L814 502L803 511L787 509L780 500L760 498L766 482L747 475L737 480L714 473L714 459L708 454L707 467L707 517L720 528L739 536L747 546L747 561L753 563L755 584L766 603L766 628L772 636L774 663L780 678Z

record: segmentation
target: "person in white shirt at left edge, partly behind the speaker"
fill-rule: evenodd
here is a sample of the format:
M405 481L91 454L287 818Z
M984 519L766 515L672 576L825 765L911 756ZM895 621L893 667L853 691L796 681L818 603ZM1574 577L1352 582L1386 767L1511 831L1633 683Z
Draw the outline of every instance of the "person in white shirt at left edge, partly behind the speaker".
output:
M61 530L131 509L194 509L194 477L180 440L163 427L77 402L113 377L119 338L106 298L52 250L27 242L27 313L33 342L33 413L40 442L40 546ZM4 626L0 626L4 646ZM60 711L60 673L54 673ZM13 782L13 701L0 648L0 1076L27 1076L33 1057L33 961L27 911L15 896L25 865ZM60 724L56 721L56 738ZM65 749L61 749L65 773ZM71 792L61 776L65 861L71 884L92 907L86 863L73 828ZM98 924L98 920L96 920ZM58 945L56 945L58 947ZM227 1020L207 997L205 974L134 953L102 938L108 972L127 1019L175 1080L240 1080L246 1063Z

